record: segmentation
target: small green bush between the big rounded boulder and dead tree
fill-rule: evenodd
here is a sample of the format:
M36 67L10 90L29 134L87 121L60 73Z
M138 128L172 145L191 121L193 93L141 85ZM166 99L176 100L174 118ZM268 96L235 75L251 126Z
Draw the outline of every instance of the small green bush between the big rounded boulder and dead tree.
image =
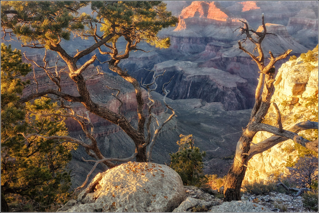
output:
M200 152L198 147L194 147L192 135L180 135L181 140L177 141L179 149L176 153L170 154L171 165L182 178L183 184L188 186L200 186L205 182L203 174L203 157L206 153Z

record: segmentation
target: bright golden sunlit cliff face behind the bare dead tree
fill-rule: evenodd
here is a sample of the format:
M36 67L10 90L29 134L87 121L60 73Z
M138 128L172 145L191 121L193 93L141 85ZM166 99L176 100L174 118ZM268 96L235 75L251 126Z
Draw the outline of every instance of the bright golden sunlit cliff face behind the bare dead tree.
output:
M318 52L316 52L316 55L318 55ZM299 57L297 60L284 63L278 70L274 83L275 92L271 101L274 101L279 107L284 129L289 129L296 123L315 117L312 111L313 107L318 109L318 103L306 107L309 98L314 95L318 97L318 62L311 64L314 68L308 70L308 64ZM269 108L264 122L278 126L273 105ZM301 131L300 134L305 134L305 132ZM310 136L315 136L315 133L312 134ZM263 141L271 135L267 132L258 132L253 139L253 143ZM298 151L291 151L293 146L294 142L287 140L255 155L248 162L245 180L267 180L273 173L287 173L285 165L289 156L295 161L298 155Z

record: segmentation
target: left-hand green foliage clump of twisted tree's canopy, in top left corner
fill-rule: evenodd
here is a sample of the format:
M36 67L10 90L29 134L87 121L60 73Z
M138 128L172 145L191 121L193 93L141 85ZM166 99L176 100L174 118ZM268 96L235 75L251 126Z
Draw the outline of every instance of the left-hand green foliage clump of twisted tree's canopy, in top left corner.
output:
M87 4L78 1L2 1L1 24L12 29L24 43L39 41L50 45L60 39L70 40L71 32L84 31L85 20L90 16L78 16L77 11Z

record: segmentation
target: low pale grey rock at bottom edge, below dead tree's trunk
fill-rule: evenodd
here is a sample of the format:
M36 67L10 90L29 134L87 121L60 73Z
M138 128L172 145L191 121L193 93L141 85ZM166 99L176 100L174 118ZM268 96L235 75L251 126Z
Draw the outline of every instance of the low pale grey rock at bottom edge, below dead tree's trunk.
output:
M209 212L272 212L270 209L249 201L223 202L214 206Z

